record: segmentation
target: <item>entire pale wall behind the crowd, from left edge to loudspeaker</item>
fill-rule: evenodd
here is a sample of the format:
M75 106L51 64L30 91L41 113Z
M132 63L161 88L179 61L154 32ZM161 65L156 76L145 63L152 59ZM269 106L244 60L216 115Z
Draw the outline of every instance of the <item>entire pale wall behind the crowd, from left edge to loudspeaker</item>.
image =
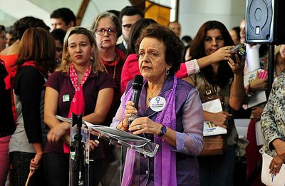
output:
M174 0L173 0L174 1ZM157 3L170 6L170 0ZM199 27L209 20L221 21L227 29L239 26L244 18L246 0L180 0L179 20L182 24L182 35L194 37ZM35 16L43 19L50 26L49 16L54 9L68 7L75 14L80 7L80 0L0 0L0 24L10 26L24 16ZM90 0L81 26L90 28L97 14L114 9L120 11L130 5L128 0Z

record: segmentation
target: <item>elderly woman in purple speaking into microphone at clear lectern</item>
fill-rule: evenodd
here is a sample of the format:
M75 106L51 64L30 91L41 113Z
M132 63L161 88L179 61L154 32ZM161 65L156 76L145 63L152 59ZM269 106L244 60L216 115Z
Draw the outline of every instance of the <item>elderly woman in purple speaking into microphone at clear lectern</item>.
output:
M149 138L160 148L154 158L128 149L122 185L199 185L203 110L197 90L174 75L180 68L180 40L166 27L150 25L138 38L136 52L144 77L139 109L130 101L130 81L111 126ZM134 114L138 118L129 125Z

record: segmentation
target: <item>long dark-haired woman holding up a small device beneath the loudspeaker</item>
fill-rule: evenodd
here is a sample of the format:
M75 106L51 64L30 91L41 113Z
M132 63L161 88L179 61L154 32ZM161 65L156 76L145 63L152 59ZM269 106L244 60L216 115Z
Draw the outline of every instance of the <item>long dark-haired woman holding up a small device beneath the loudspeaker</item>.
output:
M234 126L232 111L238 110L244 98L243 61L236 56L230 58L233 41L224 24L218 21L204 23L191 47L192 58L203 58L222 51L226 60L211 63L195 75L192 83L199 91L202 103L207 101L206 87L222 100L223 111L209 113L204 111L204 120L222 128L227 128L227 152L224 155L199 157L200 185L232 185L237 130Z

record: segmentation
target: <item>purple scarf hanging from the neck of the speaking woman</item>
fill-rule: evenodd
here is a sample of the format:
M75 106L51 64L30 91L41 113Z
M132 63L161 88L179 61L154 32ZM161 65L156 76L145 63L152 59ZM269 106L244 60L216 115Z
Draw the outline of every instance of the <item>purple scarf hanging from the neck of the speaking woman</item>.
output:
M145 87L144 82L144 87ZM177 78L174 76L172 90L165 93L166 105L163 110L157 113L156 123L176 130L176 113L175 113L175 92L177 86ZM125 118L125 105L131 99L133 88L125 93L123 100L123 118ZM155 186L157 185L177 185L176 177L176 155L172 151L172 146L166 143L162 138L155 135L154 143L160 145L157 154L155 155ZM131 185L133 181L133 169L135 164L135 150L128 148L125 159L125 167L123 173L122 185Z

